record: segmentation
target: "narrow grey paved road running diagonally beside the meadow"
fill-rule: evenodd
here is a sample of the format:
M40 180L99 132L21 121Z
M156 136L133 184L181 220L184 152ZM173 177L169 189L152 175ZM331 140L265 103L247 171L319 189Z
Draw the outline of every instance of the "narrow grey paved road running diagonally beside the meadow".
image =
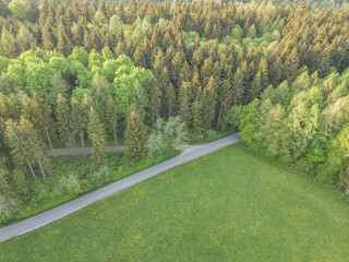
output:
M63 216L67 216L75 211L79 211L86 205L89 205L98 200L117 193L123 189L130 188L136 183L140 183L148 178L152 178L160 172L164 172L172 167L179 166L186 162L196 159L201 156L207 155L214 151L217 151L227 145L241 141L238 134L229 135L225 139L204 144L193 145L184 150L184 152L169 160L163 162L156 166L149 167L142 171L139 171L130 177L123 178L117 182L113 182L105 188L98 189L92 193L85 194L65 204L57 206L52 210L46 211L41 214L27 218L17 224L4 227L0 229L0 242L10 239L15 236L23 235L25 233L37 229L53 221L57 221Z

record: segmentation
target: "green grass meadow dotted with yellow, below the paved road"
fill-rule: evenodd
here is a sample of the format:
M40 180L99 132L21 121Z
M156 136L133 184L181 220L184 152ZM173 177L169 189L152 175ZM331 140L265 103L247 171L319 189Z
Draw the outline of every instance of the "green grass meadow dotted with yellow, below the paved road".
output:
M0 261L348 261L349 206L234 144L33 233Z

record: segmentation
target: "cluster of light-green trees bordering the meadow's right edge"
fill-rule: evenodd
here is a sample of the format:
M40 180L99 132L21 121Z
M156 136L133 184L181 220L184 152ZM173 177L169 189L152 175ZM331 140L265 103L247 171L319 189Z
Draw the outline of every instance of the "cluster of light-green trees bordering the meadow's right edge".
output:
M349 71L320 79L301 70L296 81L267 87L260 99L230 111L241 138L326 183L349 192Z

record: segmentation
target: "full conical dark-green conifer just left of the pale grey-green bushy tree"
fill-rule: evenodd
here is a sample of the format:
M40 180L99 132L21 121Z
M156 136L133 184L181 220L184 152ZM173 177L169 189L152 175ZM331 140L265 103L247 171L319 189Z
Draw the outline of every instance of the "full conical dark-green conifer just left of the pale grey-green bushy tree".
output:
M145 127L141 115L136 111L135 107L131 108L124 138L128 146L125 153L127 157L132 164L139 163L146 154Z

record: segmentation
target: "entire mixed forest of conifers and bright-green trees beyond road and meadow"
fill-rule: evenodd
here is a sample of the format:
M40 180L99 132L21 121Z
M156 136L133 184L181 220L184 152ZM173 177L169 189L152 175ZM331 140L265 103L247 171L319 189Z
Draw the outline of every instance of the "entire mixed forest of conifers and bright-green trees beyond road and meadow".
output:
M0 1L1 219L221 130L348 192L347 5Z

